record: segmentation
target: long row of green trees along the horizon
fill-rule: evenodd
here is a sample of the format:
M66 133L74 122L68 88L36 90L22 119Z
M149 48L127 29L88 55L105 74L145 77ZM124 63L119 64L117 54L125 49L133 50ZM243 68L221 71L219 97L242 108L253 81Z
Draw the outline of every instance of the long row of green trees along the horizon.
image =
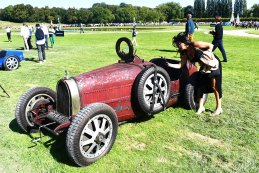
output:
M91 8L38 8L29 4L9 5L0 9L0 20L11 22L46 22L50 23L131 23L161 22L183 19L186 13L192 13L195 18L211 18L221 15L230 18L232 0L194 0L194 6L181 7L179 3L168 2L156 8L139 7L131 4L108 5L95 3ZM241 17L259 17L259 4L247 9L246 0L235 0L234 13Z

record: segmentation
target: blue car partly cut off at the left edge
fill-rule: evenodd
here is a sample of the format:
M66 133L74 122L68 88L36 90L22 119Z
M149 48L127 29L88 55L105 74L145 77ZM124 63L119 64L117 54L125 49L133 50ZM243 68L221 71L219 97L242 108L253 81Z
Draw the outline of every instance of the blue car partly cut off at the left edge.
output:
M16 70L20 62L24 60L23 52L15 50L0 51L0 68L5 70Z

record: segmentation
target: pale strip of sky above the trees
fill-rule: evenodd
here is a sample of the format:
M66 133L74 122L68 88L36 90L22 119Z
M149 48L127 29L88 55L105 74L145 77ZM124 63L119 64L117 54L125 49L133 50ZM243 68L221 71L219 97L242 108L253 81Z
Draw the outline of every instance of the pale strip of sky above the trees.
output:
M206 0L205 0L206 1ZM150 8L155 8L156 6L167 3L167 2L177 2L180 3L182 7L194 4L194 0L1 0L0 8L5 8L8 5L16 4L30 4L33 7L62 7L69 8L75 7L79 8L90 8L94 3L106 3L109 5L119 5L124 2L126 4L132 4L134 6L146 6ZM235 0L232 0L233 4ZM255 3L259 4L258 0L247 0L247 8L250 9Z

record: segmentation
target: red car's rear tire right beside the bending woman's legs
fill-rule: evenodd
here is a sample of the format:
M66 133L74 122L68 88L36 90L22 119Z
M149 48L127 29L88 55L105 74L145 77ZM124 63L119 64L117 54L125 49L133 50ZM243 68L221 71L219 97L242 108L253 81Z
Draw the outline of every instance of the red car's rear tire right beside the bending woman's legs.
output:
M197 88L196 88L196 80L197 80L198 73L194 73L189 82L185 86L184 91L184 104L187 109L194 109L198 108L198 98L197 98Z

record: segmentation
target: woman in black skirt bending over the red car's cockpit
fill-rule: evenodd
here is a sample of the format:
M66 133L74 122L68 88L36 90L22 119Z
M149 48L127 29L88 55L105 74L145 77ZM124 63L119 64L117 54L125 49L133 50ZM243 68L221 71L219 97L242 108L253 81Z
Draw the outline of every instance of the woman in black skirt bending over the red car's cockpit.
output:
M179 33L173 37L173 45L178 48L181 54L179 64L168 63L169 67L182 68L187 61L198 62L200 64L199 75L197 78L197 98L199 102L196 114L201 114L205 111L204 95L209 92L214 92L216 100L215 111L212 116L220 115L222 111L222 66L216 55L212 53L213 44L195 41L192 42L186 38L185 33Z

